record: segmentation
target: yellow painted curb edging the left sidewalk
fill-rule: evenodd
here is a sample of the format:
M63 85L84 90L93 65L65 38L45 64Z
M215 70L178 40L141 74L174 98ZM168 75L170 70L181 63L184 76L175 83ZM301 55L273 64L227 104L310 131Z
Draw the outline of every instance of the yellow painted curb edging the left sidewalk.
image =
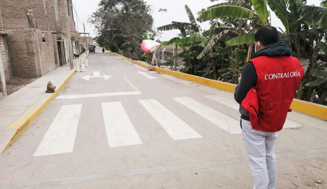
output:
M14 140L19 136L21 131L23 131L53 100L61 89L65 86L69 79L74 75L75 69L72 69L66 78L62 79L57 86L57 90L52 94L45 94L41 99L39 99L35 104L33 104L24 114L22 114L18 119L16 119L11 125L7 127L7 130L16 129L14 136L8 142L4 151L8 146L14 142Z

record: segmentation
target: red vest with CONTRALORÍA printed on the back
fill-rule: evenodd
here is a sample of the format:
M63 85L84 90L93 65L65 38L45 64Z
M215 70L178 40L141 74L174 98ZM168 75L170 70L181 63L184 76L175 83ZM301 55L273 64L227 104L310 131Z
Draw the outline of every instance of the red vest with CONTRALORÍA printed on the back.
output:
M249 111L253 129L279 131L301 82L302 65L297 58L287 56L261 56L249 62L253 63L258 80L241 105Z

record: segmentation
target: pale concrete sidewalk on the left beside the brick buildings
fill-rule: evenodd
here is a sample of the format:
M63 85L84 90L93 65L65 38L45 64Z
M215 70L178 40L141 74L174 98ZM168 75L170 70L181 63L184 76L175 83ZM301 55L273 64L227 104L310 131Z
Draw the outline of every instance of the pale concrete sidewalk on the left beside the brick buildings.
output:
M74 59L74 62L75 61L79 60ZM21 119L22 115L28 112L33 107L33 105L35 106L35 104L39 102L40 99L51 98L51 96L54 94L45 93L46 84L51 81L54 86L57 86L56 90L58 90L58 88L63 85L63 80L65 80L69 75L72 75L72 73L73 72L70 67L57 68L48 74L38 78L27 86L19 89L15 93L0 99L0 153L6 149L10 142L12 142L13 138L18 136L15 136L16 134L19 134L17 131L22 130L20 126L17 128L9 127L15 121ZM36 106L43 105L44 103L40 103ZM42 111L41 107L35 110L40 112ZM33 114L35 114L35 111Z

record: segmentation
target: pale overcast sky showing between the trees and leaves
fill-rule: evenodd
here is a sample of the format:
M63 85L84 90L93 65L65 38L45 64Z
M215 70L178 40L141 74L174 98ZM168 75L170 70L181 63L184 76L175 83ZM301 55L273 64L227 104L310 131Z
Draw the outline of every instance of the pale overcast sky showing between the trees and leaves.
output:
M83 32L83 21L85 23L85 31L86 33L91 33L92 36L95 36L95 31L92 25L86 22L88 16L95 12L98 8L98 4L100 0L73 0L74 5L77 10L77 16L78 16L78 28L79 32ZM186 11L184 9L184 5L188 5L190 9L192 10L195 17L197 17L197 13L202 8L207 8L211 5L215 5L218 2L212 3L209 0L146 0L146 2L153 6L153 13L152 16L154 18L153 27L157 28L161 25L166 25L171 23L171 21L180 21L180 22L189 22L189 17L186 14ZM220 1L224 2L224 1ZM307 5L316 5L319 6L320 0L308 0ZM158 10L167 9L167 12L158 12ZM283 24L281 21L279 21L278 18L276 18L275 14L272 13L272 19L271 24L276 27L281 27L284 30ZM75 18L76 19L76 18ZM201 23L201 28L207 30L209 28L208 22ZM161 41L169 40L173 37L176 37L176 35L179 33L179 30L173 30L173 31L165 31L162 32Z

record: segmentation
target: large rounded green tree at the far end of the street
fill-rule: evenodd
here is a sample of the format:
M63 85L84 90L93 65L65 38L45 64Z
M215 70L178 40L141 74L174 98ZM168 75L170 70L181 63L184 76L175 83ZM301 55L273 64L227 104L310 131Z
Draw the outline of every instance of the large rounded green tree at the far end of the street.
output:
M152 28L150 12L151 7L143 0L101 0L89 22L95 25L100 45L142 58L138 44L142 41L140 36Z

